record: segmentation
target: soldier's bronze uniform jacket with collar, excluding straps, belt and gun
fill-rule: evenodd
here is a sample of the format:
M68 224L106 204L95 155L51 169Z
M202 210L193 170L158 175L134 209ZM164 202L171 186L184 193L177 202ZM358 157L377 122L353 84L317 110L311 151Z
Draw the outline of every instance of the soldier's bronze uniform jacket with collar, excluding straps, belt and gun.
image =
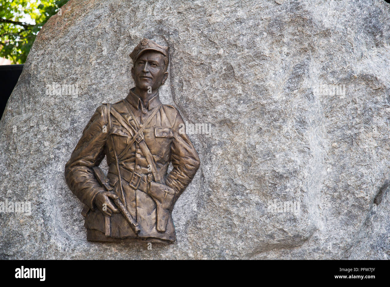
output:
M133 89L130 90L126 99L111 105L111 108L121 114L126 119L126 123L136 127L128 111L130 108L142 127L154 110L158 109L161 102L157 93L144 107L140 98L133 93ZM137 141L119 158L119 168L125 205L133 218L137 219L141 232L138 235L135 234L121 213L115 213L108 219L94 206L96 194L105 189L97 182L92 168L99 166L101 160L106 157L107 177L114 192L119 196L120 188L113 145L117 155L120 155L132 139L128 130L112 114L110 115L111 125L109 125L107 110L107 105L104 104L96 109L65 167L65 178L69 188L89 207L85 227L94 231L91 234L99 234L99 238L95 238L96 235L90 235L88 239L101 241L101 233L107 232L106 227L109 225L110 235L107 237L110 238L145 240L154 238L174 242L176 234L172 215L169 214L165 232L156 230L155 201L144 191L134 189L129 185L133 172L153 178ZM163 179L163 183L175 191L174 202L191 182L200 165L198 153L190 139L185 133L179 132L181 124L184 125L183 119L175 107L161 105L143 131L144 141L156 162L158 174ZM170 162L173 169L167 173Z

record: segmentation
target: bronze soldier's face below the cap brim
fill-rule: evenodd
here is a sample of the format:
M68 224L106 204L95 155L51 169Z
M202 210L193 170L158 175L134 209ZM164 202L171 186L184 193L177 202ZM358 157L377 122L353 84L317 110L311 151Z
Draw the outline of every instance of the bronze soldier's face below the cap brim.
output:
M138 89L158 89L168 78L168 72L165 71L164 55L155 51L142 53L131 69L131 75Z

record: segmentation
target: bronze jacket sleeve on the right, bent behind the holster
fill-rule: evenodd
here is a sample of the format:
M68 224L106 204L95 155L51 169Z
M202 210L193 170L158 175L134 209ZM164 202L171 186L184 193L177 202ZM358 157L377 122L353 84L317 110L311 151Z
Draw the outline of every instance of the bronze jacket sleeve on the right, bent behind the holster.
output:
M168 174L165 184L176 191L176 201L195 176L200 166L200 159L195 147L185 134L184 121L179 112L176 114L172 131L171 162L173 169Z

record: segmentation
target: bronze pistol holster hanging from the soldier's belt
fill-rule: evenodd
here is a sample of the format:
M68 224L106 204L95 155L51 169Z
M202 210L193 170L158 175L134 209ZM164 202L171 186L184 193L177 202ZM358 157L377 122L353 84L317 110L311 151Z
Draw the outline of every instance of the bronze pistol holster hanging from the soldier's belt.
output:
M156 202L156 229L158 232L165 232L173 209L175 190L165 184L149 182L147 194Z

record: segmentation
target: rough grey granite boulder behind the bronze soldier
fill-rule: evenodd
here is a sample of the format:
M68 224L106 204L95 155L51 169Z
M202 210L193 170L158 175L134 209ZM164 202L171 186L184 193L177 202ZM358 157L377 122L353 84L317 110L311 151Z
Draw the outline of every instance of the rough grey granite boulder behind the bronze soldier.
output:
M29 216L0 213L0 258L388 258L389 23L382 0L69 1L0 122L0 201L31 201ZM96 107L133 86L144 37L171 48L162 102L211 124L190 135L202 163L177 244L152 250L86 241L64 180ZM46 94L53 82L78 94Z

